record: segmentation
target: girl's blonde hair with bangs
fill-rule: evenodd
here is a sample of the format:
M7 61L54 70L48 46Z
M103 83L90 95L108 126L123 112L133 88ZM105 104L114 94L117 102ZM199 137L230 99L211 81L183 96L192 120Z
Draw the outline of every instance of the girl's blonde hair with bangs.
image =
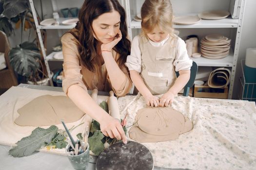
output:
M171 36L173 29L173 9L170 0L145 0L141 7L141 35L147 37L158 25Z

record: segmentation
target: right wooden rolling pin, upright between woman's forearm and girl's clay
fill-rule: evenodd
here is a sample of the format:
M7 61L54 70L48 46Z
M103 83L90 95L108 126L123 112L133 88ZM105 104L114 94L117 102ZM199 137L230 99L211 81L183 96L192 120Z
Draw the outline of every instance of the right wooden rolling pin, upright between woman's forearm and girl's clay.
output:
M114 92L111 90L109 92L110 96L108 98L108 110L109 115L113 118L118 119L120 122L120 113L119 113L119 107L118 107L118 99L114 96Z

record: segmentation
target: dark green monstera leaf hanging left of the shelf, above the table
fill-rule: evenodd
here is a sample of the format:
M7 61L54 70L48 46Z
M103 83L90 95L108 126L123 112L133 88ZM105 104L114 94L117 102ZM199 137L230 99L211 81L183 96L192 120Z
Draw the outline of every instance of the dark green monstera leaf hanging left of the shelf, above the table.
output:
M39 68L41 57L34 43L24 42L9 52L10 63L18 74L30 77Z

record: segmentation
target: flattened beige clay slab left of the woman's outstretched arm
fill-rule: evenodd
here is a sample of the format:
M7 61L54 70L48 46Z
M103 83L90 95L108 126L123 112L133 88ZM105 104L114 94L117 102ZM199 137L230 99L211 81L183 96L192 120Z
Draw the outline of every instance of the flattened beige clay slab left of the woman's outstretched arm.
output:
M66 96L43 95L18 109L20 116L15 123L20 126L47 126L59 124L60 119L70 123L84 113Z

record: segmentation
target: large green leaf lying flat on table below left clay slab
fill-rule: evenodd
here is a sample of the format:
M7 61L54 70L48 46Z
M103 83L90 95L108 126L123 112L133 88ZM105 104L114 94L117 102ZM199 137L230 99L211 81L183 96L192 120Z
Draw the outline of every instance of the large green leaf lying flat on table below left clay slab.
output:
M14 157L28 156L35 152L37 149L50 143L52 138L56 135L58 127L53 125L48 129L36 128L32 131L30 136L23 137L14 147L9 151L9 154Z

